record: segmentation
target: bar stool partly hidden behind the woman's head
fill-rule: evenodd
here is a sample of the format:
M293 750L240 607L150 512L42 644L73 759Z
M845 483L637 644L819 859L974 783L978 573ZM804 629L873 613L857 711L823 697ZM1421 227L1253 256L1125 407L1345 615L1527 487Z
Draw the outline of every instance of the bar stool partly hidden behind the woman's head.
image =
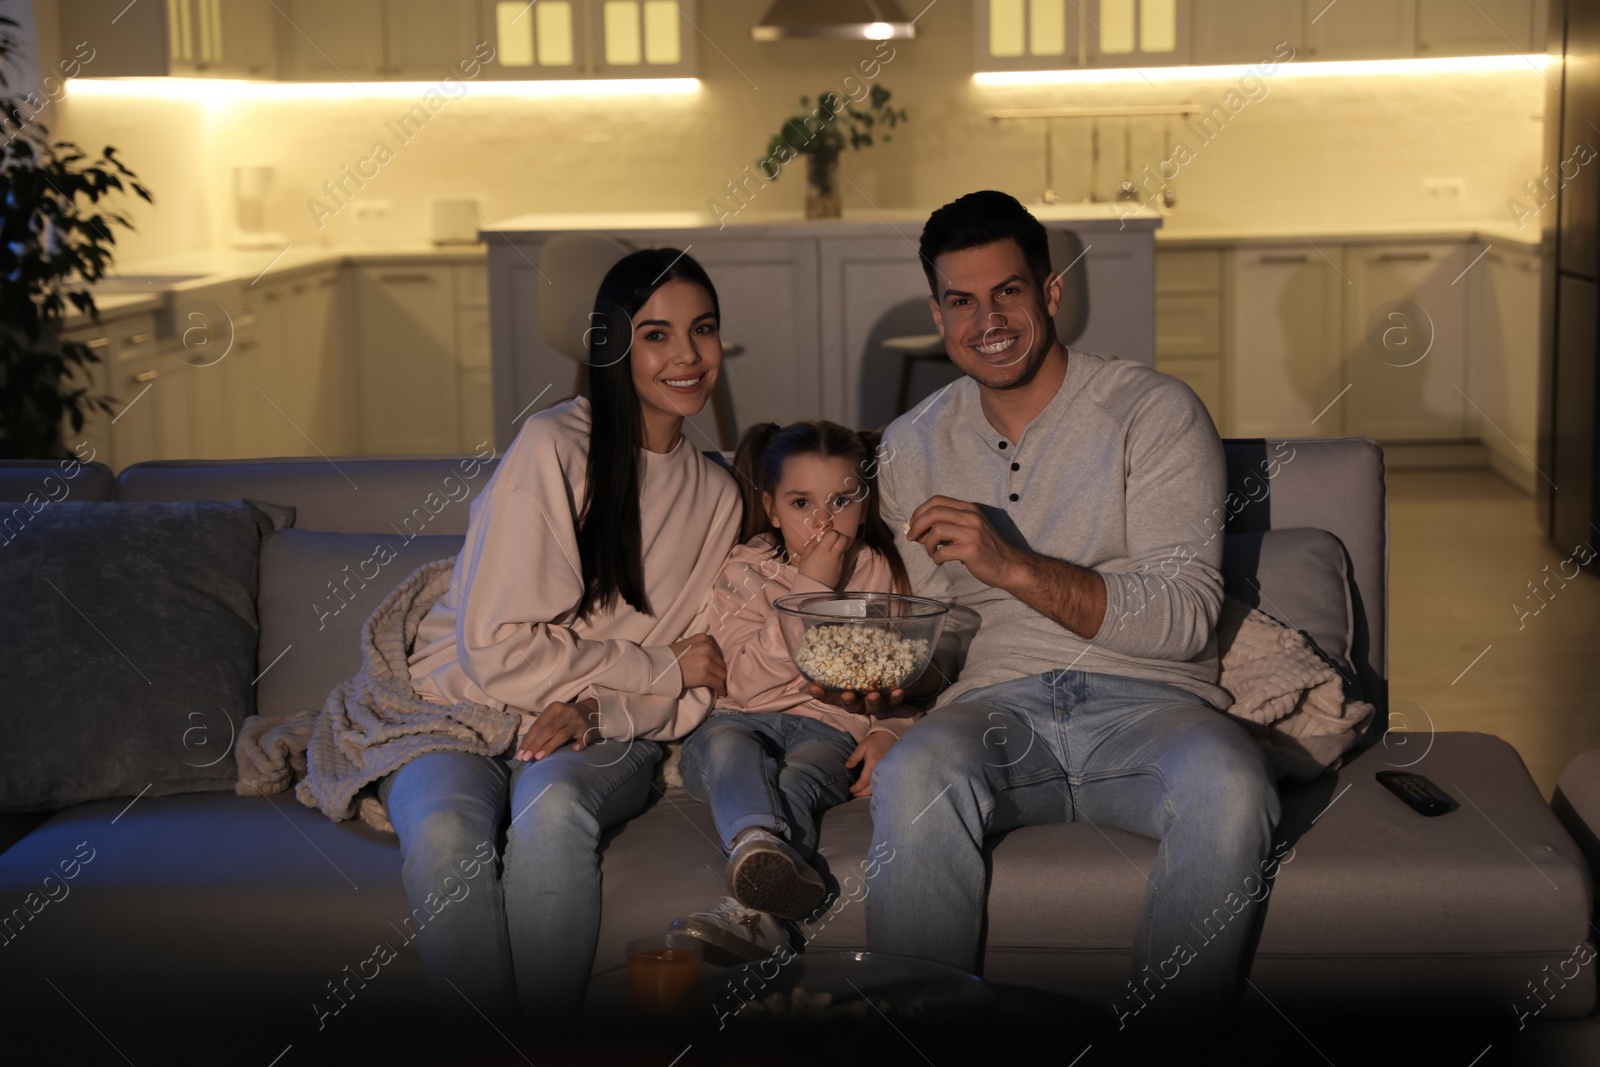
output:
M573 390L579 395L589 387L589 350L584 339L589 336L595 293L606 272L630 251L635 251L630 245L597 234L557 234L539 251L539 274L549 280L549 286L539 293L539 334L547 346L578 365ZM722 347L723 366L710 395L717 446L723 451L733 451L739 437L726 360L742 352L744 346L739 344Z

